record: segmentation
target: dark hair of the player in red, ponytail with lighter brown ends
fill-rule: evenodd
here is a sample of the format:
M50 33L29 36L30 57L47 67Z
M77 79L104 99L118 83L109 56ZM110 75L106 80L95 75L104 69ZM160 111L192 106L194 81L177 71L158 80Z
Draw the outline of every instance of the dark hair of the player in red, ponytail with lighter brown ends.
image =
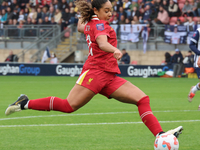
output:
M92 3L88 3L85 0L76 0L75 5L81 13L82 23L86 23L91 20L94 15L94 8L99 10L102 5L109 0L93 0Z

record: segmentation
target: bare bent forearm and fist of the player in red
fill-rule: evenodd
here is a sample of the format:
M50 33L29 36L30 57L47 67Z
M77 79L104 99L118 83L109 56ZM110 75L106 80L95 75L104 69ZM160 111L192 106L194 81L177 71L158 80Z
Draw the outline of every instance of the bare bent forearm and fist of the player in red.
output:
M99 46L99 48L105 52L113 53L114 57L119 60L122 57L122 53L119 49L112 46L110 43L108 43L107 35L99 35L96 38L96 42Z

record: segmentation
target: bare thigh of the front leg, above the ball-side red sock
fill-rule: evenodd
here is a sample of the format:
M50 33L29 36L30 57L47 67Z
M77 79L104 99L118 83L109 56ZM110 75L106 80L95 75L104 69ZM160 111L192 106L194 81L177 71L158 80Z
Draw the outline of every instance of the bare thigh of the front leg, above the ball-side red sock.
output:
M146 96L146 94L130 82L124 83L110 95L110 97L115 98L118 101L130 104L137 104L144 96Z

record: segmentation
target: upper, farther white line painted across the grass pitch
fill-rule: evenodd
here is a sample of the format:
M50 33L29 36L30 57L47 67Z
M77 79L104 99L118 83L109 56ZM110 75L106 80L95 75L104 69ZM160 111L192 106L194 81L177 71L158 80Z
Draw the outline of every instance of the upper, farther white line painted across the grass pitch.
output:
M164 113L165 112L167 112L167 113L168 112L193 112L193 111L198 111L198 110L162 110L162 111L153 111L153 113L160 113L160 112L164 112ZM61 117L61 116L115 115L115 114L132 114L132 113L138 113L138 111L25 116L25 117L13 117L13 118L0 118L0 121L13 120L13 119L28 119L28 118L45 118L45 117Z

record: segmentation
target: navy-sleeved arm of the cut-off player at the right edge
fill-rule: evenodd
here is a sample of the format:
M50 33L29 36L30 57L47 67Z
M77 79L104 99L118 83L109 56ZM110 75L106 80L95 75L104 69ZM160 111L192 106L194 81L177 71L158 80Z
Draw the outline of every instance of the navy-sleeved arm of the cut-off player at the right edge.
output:
M196 55L200 55L200 51L197 49L197 42L199 40L199 32L196 31L195 34L192 36L192 38L190 39L190 49L196 54Z

